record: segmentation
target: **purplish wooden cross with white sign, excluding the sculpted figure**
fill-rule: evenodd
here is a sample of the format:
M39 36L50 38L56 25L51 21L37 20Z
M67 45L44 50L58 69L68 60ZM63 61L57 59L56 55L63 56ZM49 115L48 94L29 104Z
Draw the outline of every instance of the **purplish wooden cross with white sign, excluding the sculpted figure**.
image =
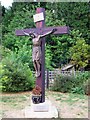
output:
M36 10L36 16L34 16L36 28L29 28L29 29L23 29L26 33L35 32L38 34L44 34L48 31L51 31L52 29L56 28L57 31L55 31L53 34L68 34L69 33L69 27L68 26L58 26L58 27L45 27L45 9L44 8L37 8ZM22 30L16 30L17 36L25 36ZM36 85L40 86L42 89L42 100L41 103L45 102L45 37L41 38L41 52L42 52L42 58L41 58L41 75L36 78Z

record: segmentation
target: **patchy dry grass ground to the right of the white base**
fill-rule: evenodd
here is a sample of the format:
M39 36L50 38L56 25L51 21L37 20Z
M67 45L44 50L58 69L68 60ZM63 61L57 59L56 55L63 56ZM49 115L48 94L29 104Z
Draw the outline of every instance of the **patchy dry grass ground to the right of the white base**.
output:
M61 118L88 118L86 95L49 92L48 98L56 105Z

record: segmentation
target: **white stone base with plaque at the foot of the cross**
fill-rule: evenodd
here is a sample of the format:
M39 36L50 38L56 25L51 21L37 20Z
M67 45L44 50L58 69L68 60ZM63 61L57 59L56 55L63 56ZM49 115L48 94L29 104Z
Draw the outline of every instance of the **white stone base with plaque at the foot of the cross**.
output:
M25 108L25 118L58 118L56 107L49 100Z

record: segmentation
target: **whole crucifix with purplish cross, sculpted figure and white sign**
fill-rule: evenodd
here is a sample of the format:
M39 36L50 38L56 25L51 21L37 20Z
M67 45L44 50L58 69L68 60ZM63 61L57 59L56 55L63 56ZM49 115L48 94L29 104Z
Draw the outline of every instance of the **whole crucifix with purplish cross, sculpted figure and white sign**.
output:
M48 34L68 34L68 26L45 27L45 9L37 8L34 15L36 28L16 30L17 36L31 36L33 42L33 64L35 68L36 86L42 91L41 103L45 102L45 36Z

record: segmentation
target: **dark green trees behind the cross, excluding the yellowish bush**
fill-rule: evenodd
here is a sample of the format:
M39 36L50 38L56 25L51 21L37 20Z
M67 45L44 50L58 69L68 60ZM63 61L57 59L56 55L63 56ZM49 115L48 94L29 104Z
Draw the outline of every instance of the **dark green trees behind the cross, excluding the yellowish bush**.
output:
M15 51L16 48L19 49L19 45L21 47L26 44L27 37L17 37L15 30L35 27L33 15L37 7L46 9L46 26L70 26L69 35L48 36L46 48L49 48L50 51L46 52L46 60L49 60L49 65L60 67L61 64L69 63L71 59L69 48L76 44L79 34L89 44L89 3L13 3L11 9L5 10L3 17L3 45ZM28 45L32 45L31 40L28 41ZM47 58L48 56L51 58Z

